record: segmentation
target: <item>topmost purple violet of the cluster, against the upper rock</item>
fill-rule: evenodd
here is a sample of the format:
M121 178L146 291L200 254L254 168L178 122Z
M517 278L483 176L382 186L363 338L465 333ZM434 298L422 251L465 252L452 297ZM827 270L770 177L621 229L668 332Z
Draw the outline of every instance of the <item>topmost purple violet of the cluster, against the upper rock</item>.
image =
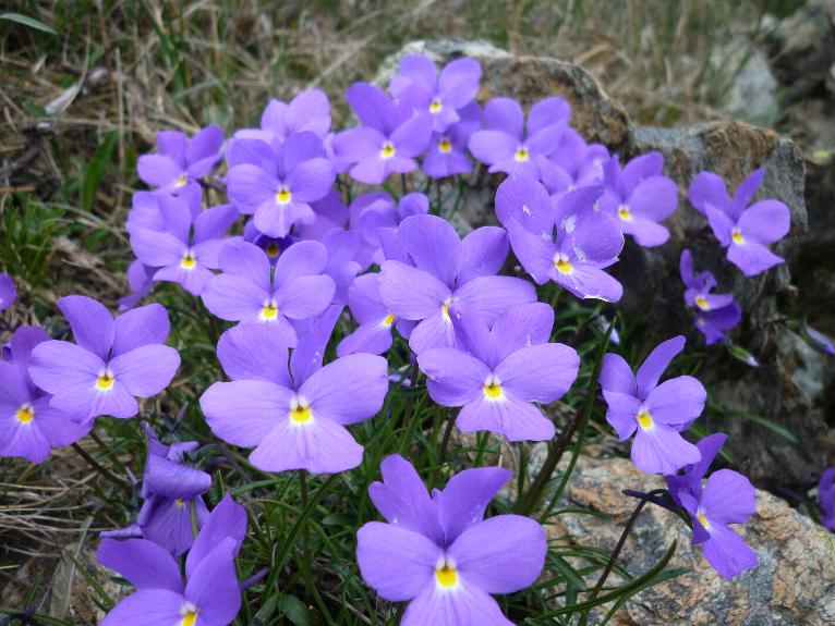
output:
M389 90L414 109L427 111L432 115L432 130L443 133L461 119L459 110L475 98L481 76L482 69L475 59L450 61L437 75L429 58L407 54L400 60L400 72L391 79Z

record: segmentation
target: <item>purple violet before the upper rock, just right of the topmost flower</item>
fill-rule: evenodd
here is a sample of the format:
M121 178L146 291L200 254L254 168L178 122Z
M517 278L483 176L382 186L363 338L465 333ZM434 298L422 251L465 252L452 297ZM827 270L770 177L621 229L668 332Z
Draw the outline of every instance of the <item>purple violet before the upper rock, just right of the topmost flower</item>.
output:
M519 102L493 98L482 116L486 130L472 134L469 148L476 159L491 167L491 173L520 173L540 180L542 163L557 149L570 118L568 102L546 98L531 107L525 132Z

